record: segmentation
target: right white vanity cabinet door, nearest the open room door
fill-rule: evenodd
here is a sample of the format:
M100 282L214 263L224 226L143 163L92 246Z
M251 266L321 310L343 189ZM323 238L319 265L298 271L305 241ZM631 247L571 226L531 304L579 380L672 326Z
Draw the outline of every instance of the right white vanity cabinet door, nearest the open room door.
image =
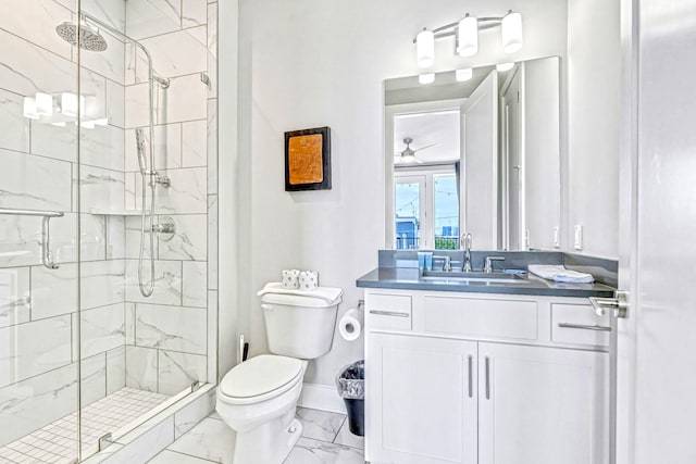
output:
M607 353L478 343L481 464L607 464Z

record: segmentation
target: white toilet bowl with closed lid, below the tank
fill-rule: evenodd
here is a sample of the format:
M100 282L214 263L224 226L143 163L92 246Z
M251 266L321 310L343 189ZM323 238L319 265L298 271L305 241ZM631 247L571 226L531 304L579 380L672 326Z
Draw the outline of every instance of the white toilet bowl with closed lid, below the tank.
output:
M234 464L278 464L300 438L295 418L307 361L262 354L239 364L217 387L215 410L234 430Z

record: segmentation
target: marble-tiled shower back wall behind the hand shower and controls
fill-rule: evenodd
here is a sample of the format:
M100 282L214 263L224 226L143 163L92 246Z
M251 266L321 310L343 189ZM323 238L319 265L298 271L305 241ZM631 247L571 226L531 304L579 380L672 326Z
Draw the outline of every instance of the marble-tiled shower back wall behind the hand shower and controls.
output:
M176 234L154 250L157 287L138 289L140 218L125 223L126 385L174 394L216 376L217 3L129 1L126 33L148 48L156 76L156 167L172 185L158 188L157 212ZM148 65L125 49L125 206L140 209L135 129L148 125ZM149 133L145 131L149 137Z

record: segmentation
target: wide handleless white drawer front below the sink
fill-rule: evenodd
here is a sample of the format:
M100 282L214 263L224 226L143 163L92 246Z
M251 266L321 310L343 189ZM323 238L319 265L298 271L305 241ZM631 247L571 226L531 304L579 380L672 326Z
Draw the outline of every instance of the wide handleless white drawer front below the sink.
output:
M425 297L425 331L468 338L536 340L536 301Z

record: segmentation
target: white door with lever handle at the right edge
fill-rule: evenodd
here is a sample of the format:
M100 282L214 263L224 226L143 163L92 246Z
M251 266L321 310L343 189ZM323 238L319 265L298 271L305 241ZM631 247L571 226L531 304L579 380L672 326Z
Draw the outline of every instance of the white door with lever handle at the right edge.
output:
M695 17L696 0L623 1L620 464L696 463Z

